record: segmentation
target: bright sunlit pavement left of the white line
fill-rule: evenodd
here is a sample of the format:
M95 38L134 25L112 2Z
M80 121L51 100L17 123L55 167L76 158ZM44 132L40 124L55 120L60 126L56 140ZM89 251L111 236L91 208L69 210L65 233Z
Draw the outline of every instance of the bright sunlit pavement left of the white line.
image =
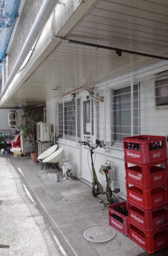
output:
M0 255L62 255L24 181L8 158L0 162Z

